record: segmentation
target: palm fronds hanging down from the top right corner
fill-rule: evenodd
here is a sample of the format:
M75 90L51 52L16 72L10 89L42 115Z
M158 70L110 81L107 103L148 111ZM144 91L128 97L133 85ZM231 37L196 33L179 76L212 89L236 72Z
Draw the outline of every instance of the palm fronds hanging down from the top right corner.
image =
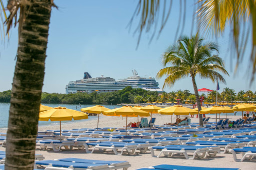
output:
M179 12L179 18L183 17L183 20L179 22L184 26L186 16L186 2L184 5L182 1L179 3L179 8L182 12ZM206 35L218 37L222 35L225 29L231 26L232 41L230 46L234 44L237 65L241 62L244 55L244 49L247 44L250 46L250 55L243 59L250 60L251 66L251 80L256 73L256 4L255 0L196 0L194 2L194 12L196 16L197 29L202 30ZM172 0L169 4L166 4L165 0L139 0L138 5L134 11L134 16L139 16L138 26L135 32L138 32L138 43L142 35L142 31L152 32L152 38L155 35L157 23L160 23L159 33L165 26L168 18L171 16ZM162 9L162 14L159 14ZM130 24L133 21L131 18ZM161 21L158 21L161 20ZM194 18L192 18L194 19ZM246 27L244 27L246 25ZM193 25L192 25L193 26ZM176 34L179 31L180 24L177 26ZM252 31L248 31L252 30ZM181 31L182 32L182 31ZM150 40L152 40L152 38ZM251 42L250 42L251 40ZM249 43L250 42L250 43ZM237 68L237 67L236 67Z

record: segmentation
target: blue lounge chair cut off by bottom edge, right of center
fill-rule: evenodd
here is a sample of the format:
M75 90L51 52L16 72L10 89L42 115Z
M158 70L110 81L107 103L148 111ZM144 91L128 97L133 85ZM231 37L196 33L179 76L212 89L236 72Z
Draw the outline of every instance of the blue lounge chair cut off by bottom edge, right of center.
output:
M206 167L187 167L187 166L174 166L174 165L158 165L150 168L141 168L137 170L240 170L239 168L206 168Z

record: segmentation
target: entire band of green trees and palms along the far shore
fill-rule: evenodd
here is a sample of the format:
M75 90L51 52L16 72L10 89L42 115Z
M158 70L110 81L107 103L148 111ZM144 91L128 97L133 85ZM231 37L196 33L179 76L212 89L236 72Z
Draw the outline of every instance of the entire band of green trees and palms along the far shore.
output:
M0 102L10 102L11 90L0 92ZM216 91L202 93L204 102L215 102ZM150 92L143 89L132 89L126 87L116 92L97 93L75 93L75 94L60 94L42 92L41 103L59 103L59 104L120 104L120 103L146 103L146 102L175 102L176 99L181 99L181 103L192 102L196 103L195 95L189 90L177 90L169 93L163 92L158 96L157 92ZM251 90L240 90L238 93L231 88L224 88L222 92L218 92L218 101L225 102L248 102L256 101L256 92Z

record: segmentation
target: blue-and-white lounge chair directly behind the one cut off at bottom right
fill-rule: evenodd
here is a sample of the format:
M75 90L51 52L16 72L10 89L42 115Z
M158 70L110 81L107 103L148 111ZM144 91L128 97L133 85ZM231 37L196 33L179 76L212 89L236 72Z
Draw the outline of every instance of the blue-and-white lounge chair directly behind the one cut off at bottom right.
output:
M195 157L204 158L208 153L210 156L215 156L217 153L220 152L219 147L215 146L186 146L186 145L168 145L168 146L156 146L156 147L149 147L149 151L151 152L151 156L154 156L154 150L161 150L157 158L161 154L164 156L173 156L174 153L183 154L185 158L188 160L193 160ZM189 157L187 153L192 153L193 156ZM200 155L201 154L201 155Z

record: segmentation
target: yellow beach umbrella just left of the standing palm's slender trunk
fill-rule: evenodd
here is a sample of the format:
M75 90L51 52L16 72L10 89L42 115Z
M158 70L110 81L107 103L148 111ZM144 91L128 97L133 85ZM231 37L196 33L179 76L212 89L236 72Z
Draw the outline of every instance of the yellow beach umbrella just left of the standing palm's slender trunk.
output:
M175 105L175 106L171 106L171 107L167 107L167 108L163 108L161 110L158 110L158 113L160 113L161 115L189 115L189 114L194 114L194 113L198 113L198 111L189 109L187 107L183 107L181 105ZM177 124L178 127L178 124ZM177 128L178 131L178 128Z

